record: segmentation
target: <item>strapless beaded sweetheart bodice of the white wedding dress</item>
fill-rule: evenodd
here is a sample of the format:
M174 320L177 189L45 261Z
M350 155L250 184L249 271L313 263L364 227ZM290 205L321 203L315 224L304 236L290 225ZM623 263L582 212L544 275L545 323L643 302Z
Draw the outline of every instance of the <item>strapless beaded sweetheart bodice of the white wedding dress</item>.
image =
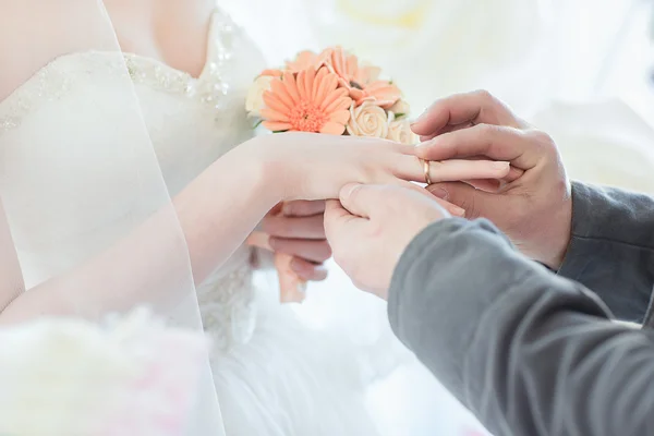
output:
M43 137L36 138L36 135L49 128L44 124L44 113L49 120L52 117L77 117L82 125L86 124L85 131L95 132L94 141L107 143L106 148L110 153L112 143L120 141L120 126L111 125L110 114L101 124L92 120L90 116L87 119L88 110L85 108L92 108L94 99L112 98L112 87L117 82L131 80L166 185L170 195L174 196L213 161L252 134L244 101L247 87L263 66L262 58L246 35L220 11L214 14L209 38L206 65L198 77L156 60L129 53L89 51L57 58L0 102L0 144L4 135L11 138L10 143L25 145L20 150L16 147L2 149L2 164L7 168L13 162L22 165L20 162L24 160L25 171L31 171L33 166L28 160L43 158L37 155L43 150L35 150L33 156L29 153L31 144L43 142ZM83 146L75 144L75 141L74 137L69 138L66 146ZM57 146L61 145L53 145L49 152L52 156ZM40 171L57 169L55 159L52 168ZM66 170L70 171L70 168ZM84 168L74 168L73 171L84 171ZM47 173L44 178L47 178ZM4 174L0 183L10 185L13 182ZM48 189L41 186L45 192ZM56 196L55 193L52 196ZM3 199L13 210L28 208L19 195L14 198L10 193ZM95 203L102 206L94 211L98 220L120 227L125 215L120 204L111 199L97 202L97 198ZM65 246L52 244L50 249L43 243L45 237L39 233L39 227L51 220L61 226L62 234L85 230L80 229L74 217L70 219L70 228L66 228L66 217L55 216L55 211L48 216L50 210L57 209L52 206L44 208L45 213L38 217L38 222L25 214L24 219L12 223L15 231L22 233L17 238L27 241L25 252L31 253L21 258L28 287L31 282L37 283L44 277L61 272L66 265L75 264L75 258L88 255L78 253L78 247L66 251ZM34 222L28 222L29 219ZM102 235L99 238L102 239ZM107 239L110 238L107 235ZM94 244L89 242L90 245ZM234 341L247 341L253 331L251 276L250 251L242 247L227 265L197 288L205 328L219 341L218 349L223 350Z

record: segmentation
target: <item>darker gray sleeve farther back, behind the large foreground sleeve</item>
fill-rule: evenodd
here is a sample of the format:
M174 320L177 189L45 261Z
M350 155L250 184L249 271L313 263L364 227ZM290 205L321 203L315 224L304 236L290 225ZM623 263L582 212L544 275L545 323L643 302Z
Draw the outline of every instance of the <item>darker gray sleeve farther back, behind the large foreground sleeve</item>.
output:
M618 318L642 322L654 286L654 198L573 183L572 208L559 275L591 289Z

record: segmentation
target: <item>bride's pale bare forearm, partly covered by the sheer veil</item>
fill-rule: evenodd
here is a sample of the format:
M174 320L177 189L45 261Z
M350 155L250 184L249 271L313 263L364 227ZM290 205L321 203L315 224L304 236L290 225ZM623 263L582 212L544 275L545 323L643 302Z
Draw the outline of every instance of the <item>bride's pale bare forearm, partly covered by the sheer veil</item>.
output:
M202 282L227 261L281 199L283 178L252 140L217 160L128 238L74 270L20 294L0 324L39 315L95 318L137 304L174 304L193 279Z

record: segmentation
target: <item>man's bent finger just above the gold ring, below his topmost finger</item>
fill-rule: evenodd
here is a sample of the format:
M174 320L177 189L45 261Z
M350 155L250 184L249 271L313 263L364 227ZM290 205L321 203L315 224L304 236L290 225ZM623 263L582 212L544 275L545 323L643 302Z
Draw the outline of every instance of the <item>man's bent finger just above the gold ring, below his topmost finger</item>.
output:
M509 161L520 170L528 170L537 164L538 148L531 132L479 124L474 128L443 134L421 144L415 148L415 155L426 160L485 156L493 160Z

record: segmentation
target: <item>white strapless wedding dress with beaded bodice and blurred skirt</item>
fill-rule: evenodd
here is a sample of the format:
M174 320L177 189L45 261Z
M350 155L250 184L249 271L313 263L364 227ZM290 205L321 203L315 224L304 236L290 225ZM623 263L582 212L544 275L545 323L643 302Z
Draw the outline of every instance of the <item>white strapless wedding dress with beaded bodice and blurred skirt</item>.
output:
M158 61L124 55L171 196L253 133L244 96L264 66L257 49L227 15L216 12L207 57L202 75L194 78ZM112 74L124 71L122 62L116 61L101 51L57 58L0 102L0 135L16 144L3 150L3 201L13 213L14 234L23 241L17 252L27 289L76 265L101 240L124 231L128 205L90 198L90 204L100 207L76 213L95 214L93 221L107 223L107 234L90 238L82 249L44 245L43 235L53 233L50 226L59 226L57 231L63 234L92 229L80 229L75 217L58 216L60 208L48 207L50 195L56 198L58 190L74 186L44 185L38 191L22 185L19 178L31 173L49 180L49 171L65 168L71 181L75 172L81 180L89 180L84 166L59 162L57 147L49 148L49 138L41 132L51 131L61 117L77 117L82 133L101 136L111 153L111 144L120 141L120 129L110 120L87 117L86 111L96 100L116 98ZM71 138L72 146L84 146L83 140L75 141ZM100 186L113 183L104 180L102 173L93 180ZM37 191L43 197L34 198ZM46 207L35 219L31 204L37 202ZM204 327L213 337L211 367L227 435L377 434L364 401L371 380L366 358L347 338L301 324L291 307L278 303L272 289L255 289L251 256L251 249L241 247L197 287Z

